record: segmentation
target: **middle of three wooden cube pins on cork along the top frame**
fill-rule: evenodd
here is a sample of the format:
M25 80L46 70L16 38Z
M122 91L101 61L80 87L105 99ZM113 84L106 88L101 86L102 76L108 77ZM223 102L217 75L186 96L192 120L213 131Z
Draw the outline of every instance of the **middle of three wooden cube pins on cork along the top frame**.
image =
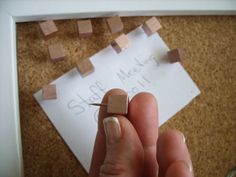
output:
M79 20L78 31L80 37L89 37L93 34L93 27L91 20Z

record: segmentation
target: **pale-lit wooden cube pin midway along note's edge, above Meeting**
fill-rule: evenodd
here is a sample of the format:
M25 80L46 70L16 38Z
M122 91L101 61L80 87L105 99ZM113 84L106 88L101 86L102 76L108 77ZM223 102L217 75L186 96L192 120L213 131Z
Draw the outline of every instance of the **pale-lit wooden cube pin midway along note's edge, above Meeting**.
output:
M114 41L112 41L111 46L117 53L120 53L122 50L128 48L129 39L125 34L120 35Z

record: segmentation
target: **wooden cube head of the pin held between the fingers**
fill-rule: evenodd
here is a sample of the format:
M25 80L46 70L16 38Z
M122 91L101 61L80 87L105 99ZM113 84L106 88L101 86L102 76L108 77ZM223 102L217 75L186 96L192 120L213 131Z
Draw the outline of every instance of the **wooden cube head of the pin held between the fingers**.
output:
M111 114L128 113L128 95L111 95L108 97L107 112Z

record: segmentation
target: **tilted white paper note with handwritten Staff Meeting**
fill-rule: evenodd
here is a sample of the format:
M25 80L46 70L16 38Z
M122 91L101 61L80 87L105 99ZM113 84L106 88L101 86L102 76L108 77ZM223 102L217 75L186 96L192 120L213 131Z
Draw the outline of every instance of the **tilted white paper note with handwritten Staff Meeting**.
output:
M166 122L200 91L180 63L166 60L169 50L158 34L147 37L139 27L128 34L130 47L117 54L111 46L90 59L95 72L82 78L74 68L56 79L56 100L34 94L48 118L88 171L97 131L98 108L105 92L122 88L130 98L146 91L158 100L159 123Z

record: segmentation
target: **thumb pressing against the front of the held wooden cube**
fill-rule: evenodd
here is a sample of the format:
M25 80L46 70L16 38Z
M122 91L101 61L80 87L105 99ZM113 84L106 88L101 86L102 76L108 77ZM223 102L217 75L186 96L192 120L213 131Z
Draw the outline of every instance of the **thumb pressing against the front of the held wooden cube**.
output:
M106 156L99 177L141 177L144 153L141 141L123 116L103 120L106 134Z

